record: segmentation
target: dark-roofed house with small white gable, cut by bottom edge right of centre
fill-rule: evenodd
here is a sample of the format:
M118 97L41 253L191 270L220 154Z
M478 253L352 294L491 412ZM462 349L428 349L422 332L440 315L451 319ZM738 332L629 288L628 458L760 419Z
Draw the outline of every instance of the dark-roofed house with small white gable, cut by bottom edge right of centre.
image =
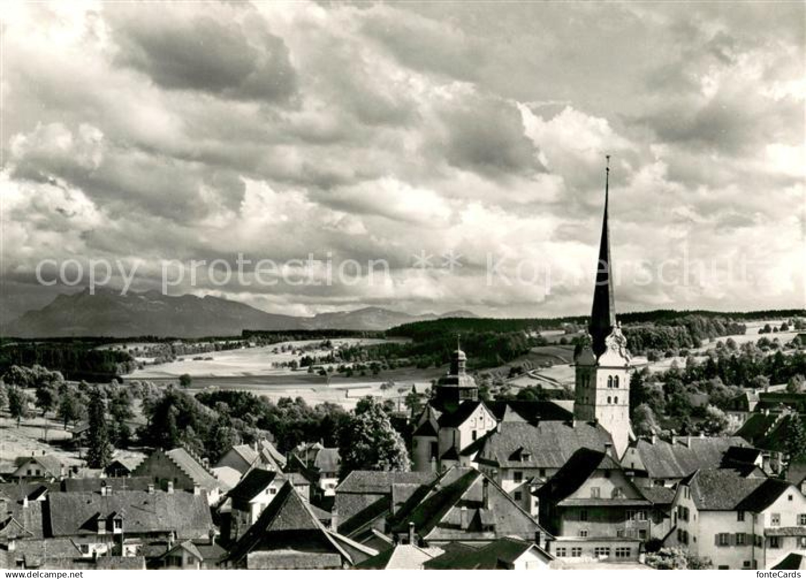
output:
M424 569L547 569L554 557L538 545L514 537L501 537L482 548L456 548L426 560Z

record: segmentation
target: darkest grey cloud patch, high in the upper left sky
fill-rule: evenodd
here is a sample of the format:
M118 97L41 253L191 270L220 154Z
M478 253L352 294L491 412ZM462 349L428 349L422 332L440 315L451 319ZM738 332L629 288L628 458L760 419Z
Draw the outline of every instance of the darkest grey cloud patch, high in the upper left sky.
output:
M276 102L297 91L285 42L248 14L241 22L173 6L154 18L152 10L130 6L110 10L110 17L118 61L166 89Z

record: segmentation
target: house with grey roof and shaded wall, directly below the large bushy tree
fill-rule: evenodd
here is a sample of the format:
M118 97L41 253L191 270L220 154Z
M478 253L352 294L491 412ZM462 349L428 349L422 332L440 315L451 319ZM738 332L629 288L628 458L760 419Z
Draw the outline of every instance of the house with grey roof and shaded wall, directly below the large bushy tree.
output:
M339 533L364 542L360 534L372 528L383 532L388 517L436 477L416 471L354 470L336 487L334 526Z

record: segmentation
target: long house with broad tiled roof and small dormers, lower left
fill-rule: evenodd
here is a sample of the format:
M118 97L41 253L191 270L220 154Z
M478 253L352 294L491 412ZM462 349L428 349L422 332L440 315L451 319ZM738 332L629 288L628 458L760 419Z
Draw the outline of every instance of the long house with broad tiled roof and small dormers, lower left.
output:
M73 540L85 556L123 555L149 558L172 540L207 537L214 530L203 490L48 494L46 520L52 537Z

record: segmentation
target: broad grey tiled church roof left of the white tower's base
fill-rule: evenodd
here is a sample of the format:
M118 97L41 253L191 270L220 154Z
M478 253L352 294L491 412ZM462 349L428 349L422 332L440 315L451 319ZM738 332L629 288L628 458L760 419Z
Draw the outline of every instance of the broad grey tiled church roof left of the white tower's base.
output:
M613 439L599 424L546 420L538 424L503 422L484 436L476 462L499 468L561 468L579 449L604 451ZM520 450L525 460L513 460ZM526 459L526 454L529 455Z

